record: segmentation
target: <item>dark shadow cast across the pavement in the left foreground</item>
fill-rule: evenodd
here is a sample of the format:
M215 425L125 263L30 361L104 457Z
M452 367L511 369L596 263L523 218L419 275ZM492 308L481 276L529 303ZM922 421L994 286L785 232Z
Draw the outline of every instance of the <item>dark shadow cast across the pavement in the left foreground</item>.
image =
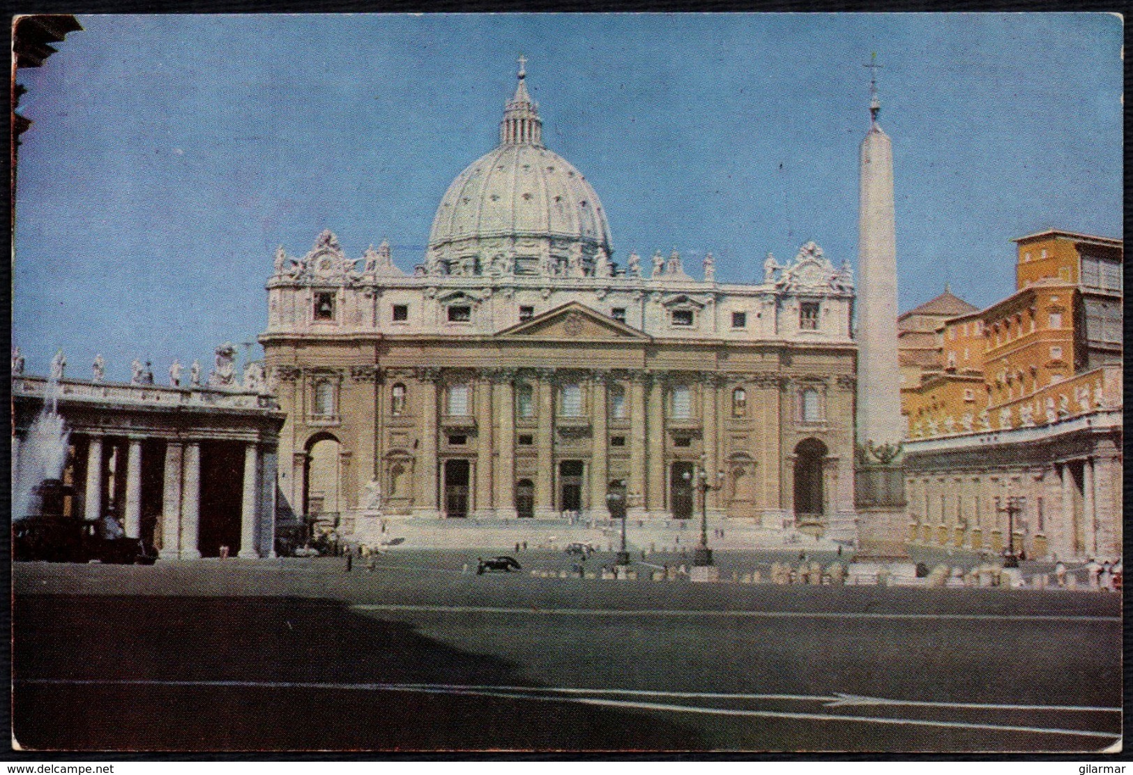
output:
M654 715L562 701L27 679L531 684L403 622L298 597L17 596L12 726L39 750L704 750ZM537 684L531 684L537 685Z

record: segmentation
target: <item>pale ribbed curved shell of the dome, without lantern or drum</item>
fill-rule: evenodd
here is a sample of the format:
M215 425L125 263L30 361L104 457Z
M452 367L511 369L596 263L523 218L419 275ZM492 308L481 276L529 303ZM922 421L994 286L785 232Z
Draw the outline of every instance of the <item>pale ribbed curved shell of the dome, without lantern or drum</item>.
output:
M559 154L526 143L501 145L457 176L433 219L429 249L497 237L578 240L610 252L610 225L590 184Z

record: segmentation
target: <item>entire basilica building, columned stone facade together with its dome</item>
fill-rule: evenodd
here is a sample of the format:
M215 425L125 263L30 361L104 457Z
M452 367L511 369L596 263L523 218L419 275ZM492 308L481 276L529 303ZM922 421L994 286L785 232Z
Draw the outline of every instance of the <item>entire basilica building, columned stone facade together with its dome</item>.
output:
M444 194L425 255L282 247L264 347L295 516L852 517L853 281L808 242L763 282L624 265L519 74L496 148ZM707 486L701 486L707 485Z

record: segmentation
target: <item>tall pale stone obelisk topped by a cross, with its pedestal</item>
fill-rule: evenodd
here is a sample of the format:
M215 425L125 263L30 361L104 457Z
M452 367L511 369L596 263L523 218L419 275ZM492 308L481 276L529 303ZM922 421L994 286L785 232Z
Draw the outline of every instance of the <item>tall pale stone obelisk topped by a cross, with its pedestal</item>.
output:
M893 146L877 122L876 61L870 126L861 143L858 220L858 394L854 500L858 559L901 561L906 512L902 471L901 371L897 365L897 245Z

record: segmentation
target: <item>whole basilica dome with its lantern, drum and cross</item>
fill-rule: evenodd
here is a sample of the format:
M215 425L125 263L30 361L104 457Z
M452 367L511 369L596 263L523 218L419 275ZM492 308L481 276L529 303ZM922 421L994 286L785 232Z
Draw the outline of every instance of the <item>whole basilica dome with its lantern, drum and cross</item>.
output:
M610 227L597 193L544 147L542 129L520 69L500 145L457 176L441 199L429 232L431 274L585 275L596 259L608 259Z

